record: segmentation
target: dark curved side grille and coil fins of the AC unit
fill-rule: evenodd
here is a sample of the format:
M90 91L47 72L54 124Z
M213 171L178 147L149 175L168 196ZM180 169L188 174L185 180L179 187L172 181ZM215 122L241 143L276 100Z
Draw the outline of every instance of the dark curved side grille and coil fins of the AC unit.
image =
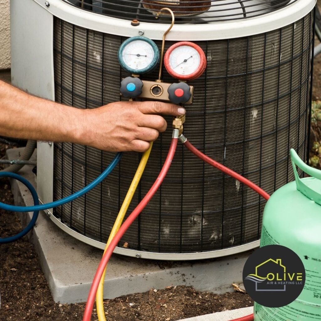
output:
M56 101L97 108L120 100L119 83L127 74L117 50L124 39L55 18ZM288 151L294 148L302 159L308 157L312 43L313 13L268 33L197 42L207 56L207 69L190 82L195 96L186 106L186 137L268 193L293 180ZM156 72L144 78L156 79ZM174 81L165 69L163 78ZM157 177L170 138L169 128L154 143L127 215ZM54 199L84 187L113 157L91 147L55 143ZM106 242L140 157L124 153L100 186L56 208L56 217L78 233ZM264 205L252 190L179 144L167 178L119 247L127 242L140 251L191 253L240 246L259 239Z

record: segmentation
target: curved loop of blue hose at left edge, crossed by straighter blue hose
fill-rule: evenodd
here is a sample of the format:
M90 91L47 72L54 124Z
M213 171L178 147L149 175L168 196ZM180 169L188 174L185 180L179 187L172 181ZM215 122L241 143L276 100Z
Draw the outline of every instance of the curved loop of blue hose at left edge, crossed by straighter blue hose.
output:
M31 183L27 179L23 178L18 174L11 173L11 172L0 172L0 177L10 177L22 182L22 184L24 184L29 189L33 198L33 204L35 204L36 206L39 205L38 194L35 188L31 185ZM21 232L8 238L0 238L0 244L14 242L22 238L23 236L25 236L36 224L38 214L39 214L39 211L34 211L32 215L32 219L30 220L29 224Z

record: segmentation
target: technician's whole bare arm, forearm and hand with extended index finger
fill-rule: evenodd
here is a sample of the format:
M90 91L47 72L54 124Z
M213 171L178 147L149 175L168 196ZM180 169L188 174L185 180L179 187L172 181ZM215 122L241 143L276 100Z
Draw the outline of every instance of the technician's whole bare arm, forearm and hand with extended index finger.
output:
M185 109L159 101L118 101L78 109L31 96L0 81L0 135L71 142L105 151L144 152L166 129L155 114L183 115Z

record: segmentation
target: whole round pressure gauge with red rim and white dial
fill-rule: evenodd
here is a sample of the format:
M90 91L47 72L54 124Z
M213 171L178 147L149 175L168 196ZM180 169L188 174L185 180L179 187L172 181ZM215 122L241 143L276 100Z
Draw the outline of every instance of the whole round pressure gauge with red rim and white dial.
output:
M193 80L206 68L206 56L193 42L180 41L169 47L164 57L168 73L179 80Z

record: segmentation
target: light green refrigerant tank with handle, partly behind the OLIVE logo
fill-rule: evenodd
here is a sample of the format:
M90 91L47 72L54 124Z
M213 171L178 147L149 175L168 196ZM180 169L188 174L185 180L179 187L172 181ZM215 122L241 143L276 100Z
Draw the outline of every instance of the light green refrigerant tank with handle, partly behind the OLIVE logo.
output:
M255 321L321 320L321 170L306 165L291 149L295 181L278 189L265 205L261 247L289 247L306 270L303 291L291 304L267 308L254 304ZM299 178L296 166L310 177Z

